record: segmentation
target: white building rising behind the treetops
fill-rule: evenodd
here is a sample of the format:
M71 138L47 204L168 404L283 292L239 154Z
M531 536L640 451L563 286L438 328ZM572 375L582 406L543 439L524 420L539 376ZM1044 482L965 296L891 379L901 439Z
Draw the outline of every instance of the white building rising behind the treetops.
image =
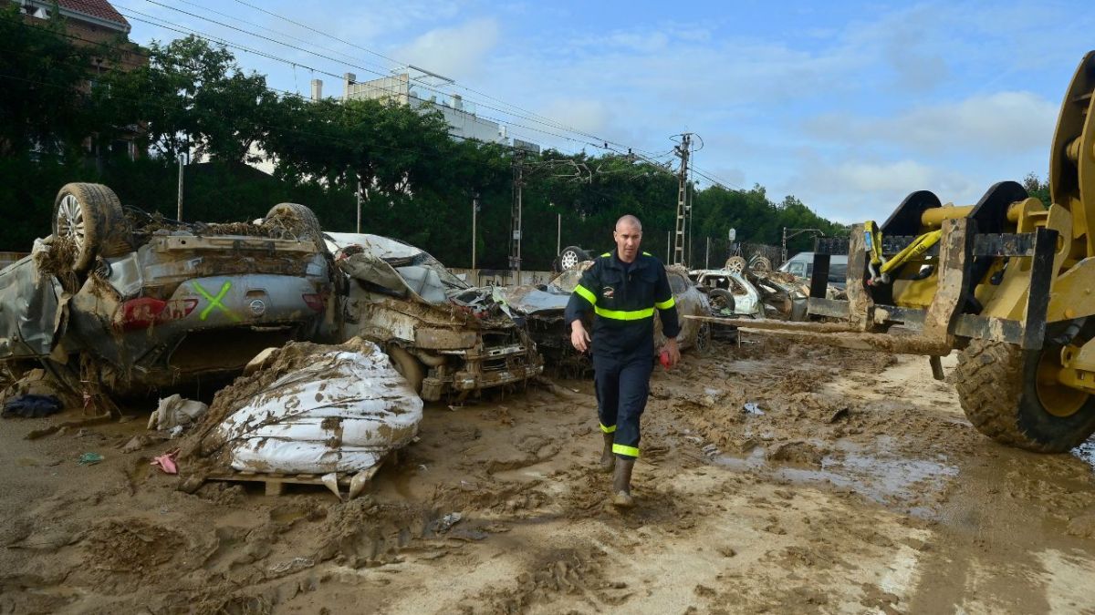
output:
M391 77L381 77L370 81L357 81L357 77L347 72L343 84L344 101L378 100L395 101L402 105L415 108L438 111L449 125L450 135L457 139L474 139L487 143L517 146L506 135L506 127L497 121L480 117L475 105L468 103L460 94L445 94L441 90L456 83L453 80L427 70L408 66L397 70ZM323 83L312 82L312 97L319 98ZM528 141L520 141L520 147L539 153L540 147Z

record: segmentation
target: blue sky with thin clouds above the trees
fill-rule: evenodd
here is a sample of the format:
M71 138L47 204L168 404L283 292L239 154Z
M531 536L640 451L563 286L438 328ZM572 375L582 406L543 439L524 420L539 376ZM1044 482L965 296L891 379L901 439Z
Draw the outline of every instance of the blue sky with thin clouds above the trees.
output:
M312 79L338 95L336 76L414 65L509 136L568 153L668 161L672 137L694 132L703 175L843 223L880 222L914 190L968 205L1045 177L1064 91L1095 47L1082 1L112 3L137 43L220 37L276 58L232 49L306 96Z

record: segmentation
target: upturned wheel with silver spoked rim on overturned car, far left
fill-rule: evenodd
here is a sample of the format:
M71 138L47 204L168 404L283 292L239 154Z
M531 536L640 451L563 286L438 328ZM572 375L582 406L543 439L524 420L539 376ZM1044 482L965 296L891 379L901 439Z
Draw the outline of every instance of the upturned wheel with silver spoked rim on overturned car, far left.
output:
M66 184L54 201L53 233L72 242L72 270L83 274L96 256L118 256L132 250L122 202L102 184Z

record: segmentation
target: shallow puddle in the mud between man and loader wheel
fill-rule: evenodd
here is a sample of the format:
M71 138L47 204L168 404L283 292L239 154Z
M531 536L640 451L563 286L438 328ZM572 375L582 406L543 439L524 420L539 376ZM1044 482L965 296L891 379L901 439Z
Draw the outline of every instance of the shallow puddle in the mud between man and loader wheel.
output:
M1095 454L1095 444L1093 444ZM958 468L944 461L917 460L845 450L821 459L821 467L809 467L765 459L763 448L747 456L722 455L715 464L729 469L751 471L798 485L834 486L885 506L899 506L917 517L934 517L925 495L940 492Z

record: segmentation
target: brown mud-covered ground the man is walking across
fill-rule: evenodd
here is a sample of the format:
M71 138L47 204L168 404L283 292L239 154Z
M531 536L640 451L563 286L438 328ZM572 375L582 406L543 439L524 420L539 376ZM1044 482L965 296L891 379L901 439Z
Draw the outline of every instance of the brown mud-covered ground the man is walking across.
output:
M123 450L151 408L3 420L0 612L1095 613L1095 442L996 445L921 358L751 341L658 368L626 513L585 381L428 405L346 503L185 495L171 442Z

